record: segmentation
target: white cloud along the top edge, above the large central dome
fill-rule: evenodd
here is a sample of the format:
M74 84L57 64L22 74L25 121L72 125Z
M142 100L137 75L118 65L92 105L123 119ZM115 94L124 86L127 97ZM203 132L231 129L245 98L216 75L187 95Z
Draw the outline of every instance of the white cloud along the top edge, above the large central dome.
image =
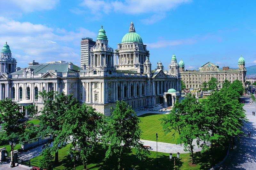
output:
M163 19L166 11L174 9L180 4L189 2L191 2L191 0L84 0L80 5L87 7L87 9L94 14L94 18L96 19L100 18L103 13L108 14L111 11L132 15L152 14L149 18L142 20L147 24L152 24Z

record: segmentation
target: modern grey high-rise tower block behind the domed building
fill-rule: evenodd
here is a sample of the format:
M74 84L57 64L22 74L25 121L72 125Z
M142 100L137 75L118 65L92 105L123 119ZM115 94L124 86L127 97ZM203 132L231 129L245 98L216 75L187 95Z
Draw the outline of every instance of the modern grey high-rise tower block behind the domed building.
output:
M90 49L95 45L95 41L92 38L86 37L81 40L81 67L85 65L90 66Z

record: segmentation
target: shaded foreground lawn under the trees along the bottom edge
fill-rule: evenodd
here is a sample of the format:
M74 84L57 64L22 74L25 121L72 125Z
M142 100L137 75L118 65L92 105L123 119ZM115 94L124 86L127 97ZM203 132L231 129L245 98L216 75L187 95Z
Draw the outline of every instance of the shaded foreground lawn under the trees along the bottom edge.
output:
M69 145L59 150L59 163L57 165L54 165L53 167L66 170L74 168L74 162L71 161L70 155L67 153L68 147ZM114 155L109 159L105 159L105 152L106 150L102 148L102 144L99 144L99 146L92 153L91 157L88 159L89 164L87 164L87 167L90 170L117 169L117 157ZM151 151L150 153L151 155L149 155L145 161L140 161L139 159L136 158L134 149L132 149L132 152L125 152L123 157L122 168L126 170L129 169L130 167L133 167L136 170L156 169L156 152ZM212 153L214 153L214 155L212 155ZM215 147L215 150L213 152L211 152L210 150L204 152L203 154L200 152L195 152L194 162L196 166L189 166L189 162L191 161L189 153L180 154L180 159L176 159L175 161L175 167L176 170L194 170L197 168L203 169L204 166L204 169L209 169L210 167L219 163L223 159L225 154L226 151L218 147ZM172 154L172 157L177 158L177 155ZM37 165L40 159L41 156L31 159L31 165L32 162L36 163L34 165ZM158 169L173 169L173 159L172 161L169 160L169 153L158 152L157 160ZM80 159L76 161L76 169L82 170L82 164L83 163Z

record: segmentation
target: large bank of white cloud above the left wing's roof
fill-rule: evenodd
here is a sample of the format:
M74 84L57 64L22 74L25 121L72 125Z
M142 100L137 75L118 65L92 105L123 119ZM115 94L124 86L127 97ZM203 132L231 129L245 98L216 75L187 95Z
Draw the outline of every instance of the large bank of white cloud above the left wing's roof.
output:
M80 50L77 48L80 46L80 39L84 36L96 36L85 28L69 32L4 17L0 17L0 26L0 43L4 45L7 41L18 62L17 66L20 67L27 66L32 60L39 63L64 60L80 65Z

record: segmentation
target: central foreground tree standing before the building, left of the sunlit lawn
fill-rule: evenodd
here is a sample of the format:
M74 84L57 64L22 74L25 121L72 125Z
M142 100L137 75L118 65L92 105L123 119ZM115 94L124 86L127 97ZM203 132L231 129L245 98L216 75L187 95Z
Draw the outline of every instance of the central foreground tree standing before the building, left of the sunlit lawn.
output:
M149 151L143 147L140 142L141 129L139 127L140 119L137 117L131 106L127 106L124 101L117 101L116 107L111 108L112 115L107 120L106 133L103 136L105 143L108 144L106 158L116 153L118 155L118 169L120 170L125 151L133 147L136 156L143 160L149 154Z

